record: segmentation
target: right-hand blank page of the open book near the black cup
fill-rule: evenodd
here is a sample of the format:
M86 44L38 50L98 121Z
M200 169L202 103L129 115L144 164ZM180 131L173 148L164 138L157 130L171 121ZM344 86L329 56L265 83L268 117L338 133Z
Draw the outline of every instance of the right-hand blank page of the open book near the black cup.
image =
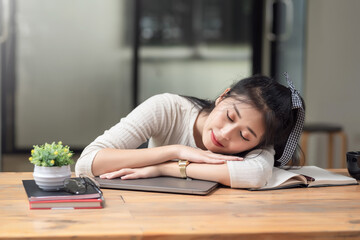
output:
M304 166L299 169L290 169L288 171L295 174L303 174L314 178L315 181L309 182L309 187L357 184L356 179L352 177L332 173L328 170L316 166Z

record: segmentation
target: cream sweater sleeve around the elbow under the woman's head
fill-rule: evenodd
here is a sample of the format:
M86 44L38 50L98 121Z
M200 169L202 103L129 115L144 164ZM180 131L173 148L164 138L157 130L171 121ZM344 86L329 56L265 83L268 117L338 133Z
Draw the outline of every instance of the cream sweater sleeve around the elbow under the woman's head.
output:
M273 149L256 149L243 161L228 161L232 188L261 188L271 178L274 166Z

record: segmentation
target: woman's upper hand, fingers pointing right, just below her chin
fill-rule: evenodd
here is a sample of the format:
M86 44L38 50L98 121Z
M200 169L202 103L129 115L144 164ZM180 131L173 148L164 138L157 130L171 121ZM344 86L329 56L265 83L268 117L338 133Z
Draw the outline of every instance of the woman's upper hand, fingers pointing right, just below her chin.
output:
M175 147L178 151L179 159L188 160L194 163L223 164L226 161L244 160L241 157L213 153L210 151L205 151L183 145L176 145Z

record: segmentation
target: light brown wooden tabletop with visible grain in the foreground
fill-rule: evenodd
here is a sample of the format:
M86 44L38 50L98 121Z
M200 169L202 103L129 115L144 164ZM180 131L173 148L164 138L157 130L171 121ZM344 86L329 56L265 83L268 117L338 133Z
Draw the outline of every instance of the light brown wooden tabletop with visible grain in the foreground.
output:
M104 209L29 210L22 179L32 173L0 173L0 239L360 239L359 185L209 196L104 190Z

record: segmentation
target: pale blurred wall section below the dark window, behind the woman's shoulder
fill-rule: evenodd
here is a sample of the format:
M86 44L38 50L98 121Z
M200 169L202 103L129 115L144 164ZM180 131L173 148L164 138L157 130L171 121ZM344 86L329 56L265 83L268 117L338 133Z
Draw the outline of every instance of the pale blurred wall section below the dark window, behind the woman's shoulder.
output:
M141 101L162 92L215 99L251 74L251 60L143 61L140 69Z

